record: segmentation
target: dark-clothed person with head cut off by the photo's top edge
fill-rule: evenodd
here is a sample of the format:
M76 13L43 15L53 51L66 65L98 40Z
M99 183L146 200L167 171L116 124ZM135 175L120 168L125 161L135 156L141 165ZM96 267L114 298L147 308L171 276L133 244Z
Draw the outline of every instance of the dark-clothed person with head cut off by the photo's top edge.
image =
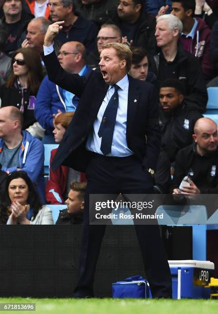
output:
M99 28L116 12L118 0L74 0L76 12Z

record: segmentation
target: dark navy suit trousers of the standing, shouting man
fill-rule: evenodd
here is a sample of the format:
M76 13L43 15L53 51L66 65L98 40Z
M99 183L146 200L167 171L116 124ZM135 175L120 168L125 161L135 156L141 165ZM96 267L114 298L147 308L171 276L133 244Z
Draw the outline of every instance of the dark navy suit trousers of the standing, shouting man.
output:
M87 166L87 188L82 246L78 264L78 282L74 297L93 297L94 272L105 225L89 225L89 194L148 194L153 192L153 178L143 171L134 155L108 157L93 153ZM142 252L146 278L153 298L171 298L172 281L158 225L135 225Z

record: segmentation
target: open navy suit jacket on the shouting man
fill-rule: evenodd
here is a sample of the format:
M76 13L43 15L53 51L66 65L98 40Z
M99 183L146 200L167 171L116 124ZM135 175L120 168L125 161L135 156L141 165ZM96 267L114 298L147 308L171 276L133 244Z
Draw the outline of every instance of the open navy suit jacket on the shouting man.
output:
M87 136L92 132L108 85L98 71L91 71L88 77L66 72L54 52L43 56L43 60L49 80L80 98L73 119L55 154L52 169L65 165L85 172L91 155L85 148ZM135 80L129 75L128 78L127 145L141 161L144 170L155 169L161 143L157 91L150 83Z

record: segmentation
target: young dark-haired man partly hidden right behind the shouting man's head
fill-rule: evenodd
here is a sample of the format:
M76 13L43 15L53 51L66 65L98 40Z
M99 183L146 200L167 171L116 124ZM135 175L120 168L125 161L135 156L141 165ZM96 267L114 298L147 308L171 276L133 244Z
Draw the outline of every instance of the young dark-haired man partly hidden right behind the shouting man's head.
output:
M133 78L141 81L146 81L151 84L156 83L156 75L148 72L148 53L145 49L131 47L132 51L132 64L129 74Z

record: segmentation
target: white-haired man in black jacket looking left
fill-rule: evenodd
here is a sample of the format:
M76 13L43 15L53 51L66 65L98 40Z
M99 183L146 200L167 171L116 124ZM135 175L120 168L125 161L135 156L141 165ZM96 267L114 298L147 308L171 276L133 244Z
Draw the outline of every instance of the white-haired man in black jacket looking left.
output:
M160 52L154 56L154 73L159 82L179 79L184 86L185 105L204 112L208 100L205 80L199 60L178 43L182 29L182 22L172 14L157 18L155 36Z

